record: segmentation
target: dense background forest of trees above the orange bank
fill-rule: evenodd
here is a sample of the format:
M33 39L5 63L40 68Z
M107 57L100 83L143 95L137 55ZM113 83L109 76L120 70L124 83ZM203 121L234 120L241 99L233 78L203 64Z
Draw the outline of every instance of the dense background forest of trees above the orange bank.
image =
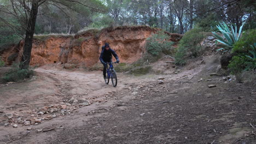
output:
M12 35L13 31L19 35L24 34L20 27L25 19L21 13L25 11L20 7L21 13L16 15L13 2L15 1L0 1L1 43L5 42L3 40L16 39L13 38L16 37ZM168 32L184 33L195 26L211 31L220 21L236 23L238 26L241 26L243 21L248 21L247 29L255 27L256 7L255 2L251 0L89 0L84 2L97 9L68 1L63 3L46 1L38 9L35 33L71 34L81 29L124 25L148 25Z

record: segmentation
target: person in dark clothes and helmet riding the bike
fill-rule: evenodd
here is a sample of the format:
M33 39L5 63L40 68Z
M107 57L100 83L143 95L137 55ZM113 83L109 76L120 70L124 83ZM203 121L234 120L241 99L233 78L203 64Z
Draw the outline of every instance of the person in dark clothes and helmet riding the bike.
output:
M117 63L119 63L119 58L117 53L115 53L114 50L110 49L108 43L105 43L105 45L102 46L101 49L102 51L100 55L100 61L104 65L103 76L104 76L104 79L106 79L107 63L112 63L112 55L115 57L115 59L117 59ZM112 64L109 64L109 65L112 65Z

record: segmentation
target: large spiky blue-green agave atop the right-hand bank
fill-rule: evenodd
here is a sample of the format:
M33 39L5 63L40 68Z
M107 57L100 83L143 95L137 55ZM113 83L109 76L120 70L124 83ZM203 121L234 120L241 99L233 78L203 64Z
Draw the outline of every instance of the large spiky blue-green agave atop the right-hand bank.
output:
M219 45L219 46L222 46L222 48L218 49L217 51L219 50L230 51L233 48L233 45L236 43L236 41L238 41L238 39L240 38L243 25L245 25L245 22L243 22L242 26L239 28L239 33L237 35L236 24L235 25L232 24L228 26L224 22L219 23L219 25L217 25L217 28L219 29L218 32L222 33L224 35L224 38L220 37L220 35L218 35L217 33L212 32L213 37L215 37L219 43L222 43L221 45Z

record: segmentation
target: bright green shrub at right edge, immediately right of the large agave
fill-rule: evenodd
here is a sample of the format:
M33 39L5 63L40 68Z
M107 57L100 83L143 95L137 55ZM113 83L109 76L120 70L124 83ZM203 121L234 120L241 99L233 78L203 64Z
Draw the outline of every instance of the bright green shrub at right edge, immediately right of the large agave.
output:
M239 39L232 49L233 53L237 54L249 54L250 45L256 42L256 29L243 32L241 39Z

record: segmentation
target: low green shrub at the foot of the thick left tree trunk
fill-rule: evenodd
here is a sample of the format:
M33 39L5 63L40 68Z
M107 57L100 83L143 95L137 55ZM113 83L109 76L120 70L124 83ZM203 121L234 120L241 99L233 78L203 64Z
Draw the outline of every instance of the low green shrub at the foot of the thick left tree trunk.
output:
M13 64L13 68L4 74L2 80L4 82L20 82L34 74L32 69L20 69L19 64Z

